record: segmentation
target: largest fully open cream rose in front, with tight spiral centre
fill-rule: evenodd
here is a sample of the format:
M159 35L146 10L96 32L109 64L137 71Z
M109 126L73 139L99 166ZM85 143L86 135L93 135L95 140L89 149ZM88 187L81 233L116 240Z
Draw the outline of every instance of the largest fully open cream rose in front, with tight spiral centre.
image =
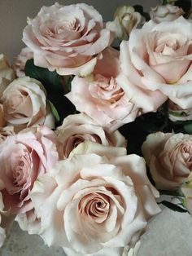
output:
M79 154L59 161L34 184L31 198L47 245L84 255L133 247L146 220L159 212L159 193L142 157L104 156Z

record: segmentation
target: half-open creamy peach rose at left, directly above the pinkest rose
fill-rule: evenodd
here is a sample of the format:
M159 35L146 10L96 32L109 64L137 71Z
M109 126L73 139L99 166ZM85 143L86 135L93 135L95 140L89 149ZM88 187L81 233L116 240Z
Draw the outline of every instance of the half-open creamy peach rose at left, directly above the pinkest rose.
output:
M30 77L15 79L2 94L4 118L16 130L45 124L54 127L54 118L46 108L46 90Z

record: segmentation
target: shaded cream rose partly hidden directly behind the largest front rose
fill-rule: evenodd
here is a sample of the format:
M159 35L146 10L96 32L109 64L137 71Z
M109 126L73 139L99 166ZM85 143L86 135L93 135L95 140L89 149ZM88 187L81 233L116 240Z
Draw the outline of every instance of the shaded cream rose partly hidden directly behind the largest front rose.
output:
M67 158L72 152L78 151L78 146L85 141L100 143L103 146L111 147L111 150L113 147L126 148L126 140L118 130L109 134L93 119L82 113L66 117L62 126L57 127L56 134L59 142L63 145L62 158ZM93 144L91 145L93 146ZM121 150L119 148L120 152Z

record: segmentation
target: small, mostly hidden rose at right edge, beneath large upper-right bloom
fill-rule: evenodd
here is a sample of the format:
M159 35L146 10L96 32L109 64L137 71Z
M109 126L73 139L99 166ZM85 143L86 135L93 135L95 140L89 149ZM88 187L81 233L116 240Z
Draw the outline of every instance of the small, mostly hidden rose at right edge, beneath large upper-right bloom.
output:
M168 101L168 118L171 121L192 120L192 108L182 109L171 100Z

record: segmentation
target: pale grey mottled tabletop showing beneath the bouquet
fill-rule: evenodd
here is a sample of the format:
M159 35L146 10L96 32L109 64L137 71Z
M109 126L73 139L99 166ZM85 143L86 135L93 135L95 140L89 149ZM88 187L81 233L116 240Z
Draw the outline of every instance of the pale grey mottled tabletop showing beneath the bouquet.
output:
M164 208L151 219L141 238L137 256L191 256L192 218ZM0 249L2 256L64 256L61 248L48 248L40 236L28 235L17 223L11 227L7 241Z

